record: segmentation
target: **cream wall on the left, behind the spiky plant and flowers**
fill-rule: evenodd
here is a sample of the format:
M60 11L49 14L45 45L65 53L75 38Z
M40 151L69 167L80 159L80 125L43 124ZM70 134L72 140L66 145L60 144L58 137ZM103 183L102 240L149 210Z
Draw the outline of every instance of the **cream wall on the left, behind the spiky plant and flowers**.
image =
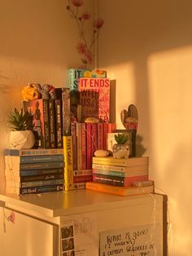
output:
M81 65L76 52L78 29L67 5L68 0L1 1L0 192L4 189L2 151L8 145L7 113L22 106L21 89L28 82L68 86L67 69ZM93 14L94 1L85 2L85 10Z

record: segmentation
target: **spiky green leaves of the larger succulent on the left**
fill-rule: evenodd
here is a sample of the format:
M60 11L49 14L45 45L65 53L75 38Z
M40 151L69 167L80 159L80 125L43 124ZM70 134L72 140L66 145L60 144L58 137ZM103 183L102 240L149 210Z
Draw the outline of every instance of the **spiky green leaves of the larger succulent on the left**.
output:
M8 122L11 130L32 130L33 115L28 112L24 112L23 108L17 110L15 108L8 115Z

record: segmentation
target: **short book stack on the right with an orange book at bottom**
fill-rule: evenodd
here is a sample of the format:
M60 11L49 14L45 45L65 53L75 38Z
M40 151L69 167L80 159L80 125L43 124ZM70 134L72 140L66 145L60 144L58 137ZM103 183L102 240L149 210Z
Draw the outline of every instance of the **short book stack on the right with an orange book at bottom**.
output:
M93 182L86 188L119 196L154 192L149 180L149 157L93 157Z

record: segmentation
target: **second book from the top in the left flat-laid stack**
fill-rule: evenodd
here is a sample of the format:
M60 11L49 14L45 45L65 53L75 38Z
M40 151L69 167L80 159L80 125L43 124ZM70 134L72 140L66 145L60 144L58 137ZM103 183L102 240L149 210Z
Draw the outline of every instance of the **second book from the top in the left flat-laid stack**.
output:
M11 159L10 159L11 161ZM20 157L20 163L40 163L40 162L52 162L63 161L63 155L48 155L48 156L34 156L34 157Z

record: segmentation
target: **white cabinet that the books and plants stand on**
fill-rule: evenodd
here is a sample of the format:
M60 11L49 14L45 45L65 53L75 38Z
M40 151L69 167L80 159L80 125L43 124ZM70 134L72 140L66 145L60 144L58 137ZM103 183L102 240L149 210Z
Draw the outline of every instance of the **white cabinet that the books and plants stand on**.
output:
M60 219L94 214L100 232L153 224L159 229L159 254L167 255L166 196L112 196L86 190L50 194L0 195L0 255L60 256ZM15 223L7 220L11 211ZM6 232L3 230L3 223ZM89 255L92 256L92 255Z

